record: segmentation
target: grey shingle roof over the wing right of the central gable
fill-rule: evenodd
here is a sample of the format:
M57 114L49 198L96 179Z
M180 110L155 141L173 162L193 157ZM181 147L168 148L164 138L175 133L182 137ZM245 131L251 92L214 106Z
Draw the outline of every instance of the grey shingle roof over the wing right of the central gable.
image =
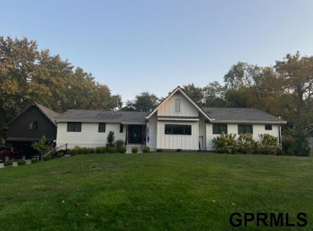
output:
M214 120L231 121L255 121L255 122L278 122L285 121L259 109L254 108L202 108L203 111Z

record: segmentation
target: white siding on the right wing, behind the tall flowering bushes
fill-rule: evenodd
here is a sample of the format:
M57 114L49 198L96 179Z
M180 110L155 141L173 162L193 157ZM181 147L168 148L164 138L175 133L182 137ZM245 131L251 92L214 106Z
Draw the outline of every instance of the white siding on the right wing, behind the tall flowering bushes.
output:
M272 130L265 130L265 124L252 124L253 129L253 139L259 141L259 134L269 134L274 137L279 137L279 127L277 124L272 124ZM229 123L227 124L227 133L228 134L237 134L236 139L238 139L238 124ZM212 151L215 150L214 143L212 139L219 135L213 134L213 125L212 123L206 124L206 150Z

